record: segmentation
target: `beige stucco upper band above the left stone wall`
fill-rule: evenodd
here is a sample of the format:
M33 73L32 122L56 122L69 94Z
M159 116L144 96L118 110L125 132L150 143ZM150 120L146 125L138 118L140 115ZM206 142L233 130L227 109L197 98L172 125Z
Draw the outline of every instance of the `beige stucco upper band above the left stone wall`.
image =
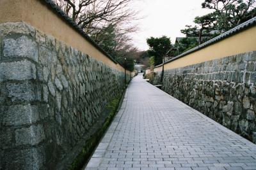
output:
M90 55L96 60L104 62L108 66L124 71L120 64L115 64L81 36L79 32L70 27L63 18L58 17L56 13L46 6L44 1L0 0L0 23L20 21L26 22L46 34L51 34L56 39Z

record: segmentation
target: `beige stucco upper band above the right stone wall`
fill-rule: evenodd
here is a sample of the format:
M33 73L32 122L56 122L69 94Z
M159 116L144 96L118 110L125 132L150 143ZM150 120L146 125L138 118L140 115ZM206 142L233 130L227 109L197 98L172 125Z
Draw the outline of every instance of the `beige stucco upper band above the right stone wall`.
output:
M189 66L205 62L207 60L220 59L237 53L251 52L256 50L256 26L223 39L218 43L202 48L196 52L180 57L164 64L164 70L177 67ZM154 68L154 72L162 71L162 66Z

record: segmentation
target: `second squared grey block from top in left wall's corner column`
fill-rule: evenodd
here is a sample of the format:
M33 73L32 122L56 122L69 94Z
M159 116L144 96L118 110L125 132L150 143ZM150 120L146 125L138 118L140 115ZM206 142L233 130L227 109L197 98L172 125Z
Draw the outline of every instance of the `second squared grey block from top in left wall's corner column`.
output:
M35 64L28 60L0 63L0 82L36 79Z

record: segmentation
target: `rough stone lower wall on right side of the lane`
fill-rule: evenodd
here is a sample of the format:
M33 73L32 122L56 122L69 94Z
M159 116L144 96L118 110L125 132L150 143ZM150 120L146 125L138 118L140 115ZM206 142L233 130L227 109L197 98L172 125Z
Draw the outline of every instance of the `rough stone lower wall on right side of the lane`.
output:
M167 70L162 89L256 143L256 52Z

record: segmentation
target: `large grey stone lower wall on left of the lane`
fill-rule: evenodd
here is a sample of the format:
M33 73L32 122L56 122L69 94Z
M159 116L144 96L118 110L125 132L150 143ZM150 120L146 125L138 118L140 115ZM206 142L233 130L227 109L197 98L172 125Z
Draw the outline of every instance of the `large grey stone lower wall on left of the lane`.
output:
M24 22L0 24L0 169L54 169L123 88L123 72Z

